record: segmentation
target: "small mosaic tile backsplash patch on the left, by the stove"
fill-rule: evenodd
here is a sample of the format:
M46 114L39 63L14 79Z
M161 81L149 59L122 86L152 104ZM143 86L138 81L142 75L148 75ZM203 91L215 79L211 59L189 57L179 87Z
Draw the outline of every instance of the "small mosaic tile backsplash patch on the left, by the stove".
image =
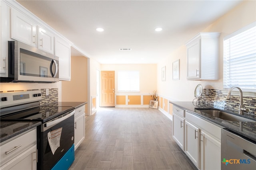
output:
M46 96L46 89L41 89L41 93L42 100L40 101L40 106L58 102L58 88L50 88L48 96Z

